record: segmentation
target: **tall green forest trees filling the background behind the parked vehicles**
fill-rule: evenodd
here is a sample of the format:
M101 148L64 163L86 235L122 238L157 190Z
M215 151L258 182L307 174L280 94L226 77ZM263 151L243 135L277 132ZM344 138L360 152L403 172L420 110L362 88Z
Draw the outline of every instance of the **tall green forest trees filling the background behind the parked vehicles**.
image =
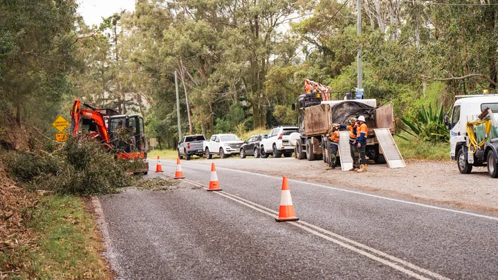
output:
M84 24L75 0L0 3L4 147L16 125L51 137L83 97L140 113L148 137L174 149L175 71L183 133L295 124L305 78L356 86L358 48L366 97L393 100L397 118L498 85L497 0L363 0L361 36L356 1L138 0L100 26Z

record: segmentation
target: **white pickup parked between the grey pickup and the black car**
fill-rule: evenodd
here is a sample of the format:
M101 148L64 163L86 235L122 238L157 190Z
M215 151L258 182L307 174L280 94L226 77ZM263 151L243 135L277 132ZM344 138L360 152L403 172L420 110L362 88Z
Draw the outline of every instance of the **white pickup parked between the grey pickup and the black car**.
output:
M219 155L221 158L239 153L243 141L234 134L214 134L209 141L203 142L206 158Z

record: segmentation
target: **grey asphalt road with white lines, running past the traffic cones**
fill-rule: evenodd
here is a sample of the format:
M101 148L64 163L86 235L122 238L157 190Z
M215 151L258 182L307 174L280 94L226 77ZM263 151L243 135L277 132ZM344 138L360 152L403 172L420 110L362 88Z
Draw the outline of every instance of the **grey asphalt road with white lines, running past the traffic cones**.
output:
M149 176L174 174L161 162ZM119 279L498 279L497 216L331 178L289 180L299 221L277 223L281 177L218 167L223 192L206 192L210 162L182 161L178 189L99 198Z

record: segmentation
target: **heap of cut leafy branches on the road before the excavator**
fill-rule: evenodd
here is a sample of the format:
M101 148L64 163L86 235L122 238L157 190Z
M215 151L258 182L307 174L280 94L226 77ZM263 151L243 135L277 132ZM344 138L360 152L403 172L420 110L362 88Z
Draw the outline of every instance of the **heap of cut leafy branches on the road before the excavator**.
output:
M6 169L20 183L59 194L109 194L136 180L128 175L142 162L116 160L104 145L88 138L69 140L54 153L8 153Z

